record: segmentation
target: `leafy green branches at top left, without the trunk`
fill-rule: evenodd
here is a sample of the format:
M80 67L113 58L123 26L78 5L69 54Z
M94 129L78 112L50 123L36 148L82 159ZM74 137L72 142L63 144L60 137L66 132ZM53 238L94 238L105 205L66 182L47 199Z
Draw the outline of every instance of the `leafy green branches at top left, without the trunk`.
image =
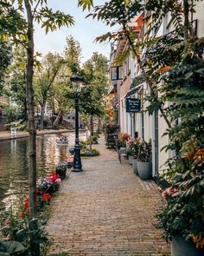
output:
M41 28L45 28L46 34L49 30L54 31L62 26L72 26L73 16L65 14L60 10L48 8L47 1L29 1L32 4L32 19L41 23ZM25 12L22 0L1 0L0 16L0 36L2 39L10 37L14 43L26 45L28 38L26 31L28 23L23 16ZM17 7L16 7L17 6Z

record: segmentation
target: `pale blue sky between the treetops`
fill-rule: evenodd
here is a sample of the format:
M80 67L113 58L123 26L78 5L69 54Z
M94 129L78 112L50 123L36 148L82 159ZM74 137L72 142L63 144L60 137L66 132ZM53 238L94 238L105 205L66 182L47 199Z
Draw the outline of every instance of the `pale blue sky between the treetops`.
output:
M103 0L95 0L94 3L105 3ZM48 7L53 10L61 10L73 16L75 24L72 27L62 27L61 30L48 32L41 29L41 26L35 25L35 51L41 52L44 56L49 51L62 53L66 37L72 35L74 40L80 43L82 49L82 62L86 62L91 58L94 51L98 51L107 58L110 55L110 43L93 43L97 36L101 36L110 31L110 28L105 24L92 20L92 17L85 19L88 11L77 7L78 0L48 0Z

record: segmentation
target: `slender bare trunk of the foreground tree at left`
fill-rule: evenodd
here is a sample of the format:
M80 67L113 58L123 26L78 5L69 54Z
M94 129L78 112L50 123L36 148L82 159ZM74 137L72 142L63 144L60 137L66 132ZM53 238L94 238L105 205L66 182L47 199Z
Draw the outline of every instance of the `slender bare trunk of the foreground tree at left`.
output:
M34 233L37 230L36 220L36 129L35 129L35 102L33 89L34 75L34 30L33 16L29 0L24 0L28 18L28 46L27 46L27 76L26 96L29 117L29 210L30 210L30 250L32 255L40 255L40 246L36 244Z

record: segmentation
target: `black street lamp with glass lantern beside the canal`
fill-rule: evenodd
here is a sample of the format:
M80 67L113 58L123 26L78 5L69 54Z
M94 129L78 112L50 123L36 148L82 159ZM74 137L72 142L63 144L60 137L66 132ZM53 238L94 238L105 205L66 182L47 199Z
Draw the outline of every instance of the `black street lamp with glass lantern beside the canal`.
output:
M70 78L73 84L74 102L75 102L75 145L73 157L73 172L81 172L82 165L80 161L80 139L79 139L79 94L84 82L80 75L73 75Z

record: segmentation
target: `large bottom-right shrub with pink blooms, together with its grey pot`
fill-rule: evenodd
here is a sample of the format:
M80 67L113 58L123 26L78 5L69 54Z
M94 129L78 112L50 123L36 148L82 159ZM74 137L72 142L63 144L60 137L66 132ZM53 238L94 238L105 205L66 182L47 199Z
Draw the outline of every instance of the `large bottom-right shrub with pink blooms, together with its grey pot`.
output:
M165 205L157 209L156 227L171 241L171 255L204 255L204 211L192 194L184 196L178 183L163 191ZM178 188L179 187L179 188Z

